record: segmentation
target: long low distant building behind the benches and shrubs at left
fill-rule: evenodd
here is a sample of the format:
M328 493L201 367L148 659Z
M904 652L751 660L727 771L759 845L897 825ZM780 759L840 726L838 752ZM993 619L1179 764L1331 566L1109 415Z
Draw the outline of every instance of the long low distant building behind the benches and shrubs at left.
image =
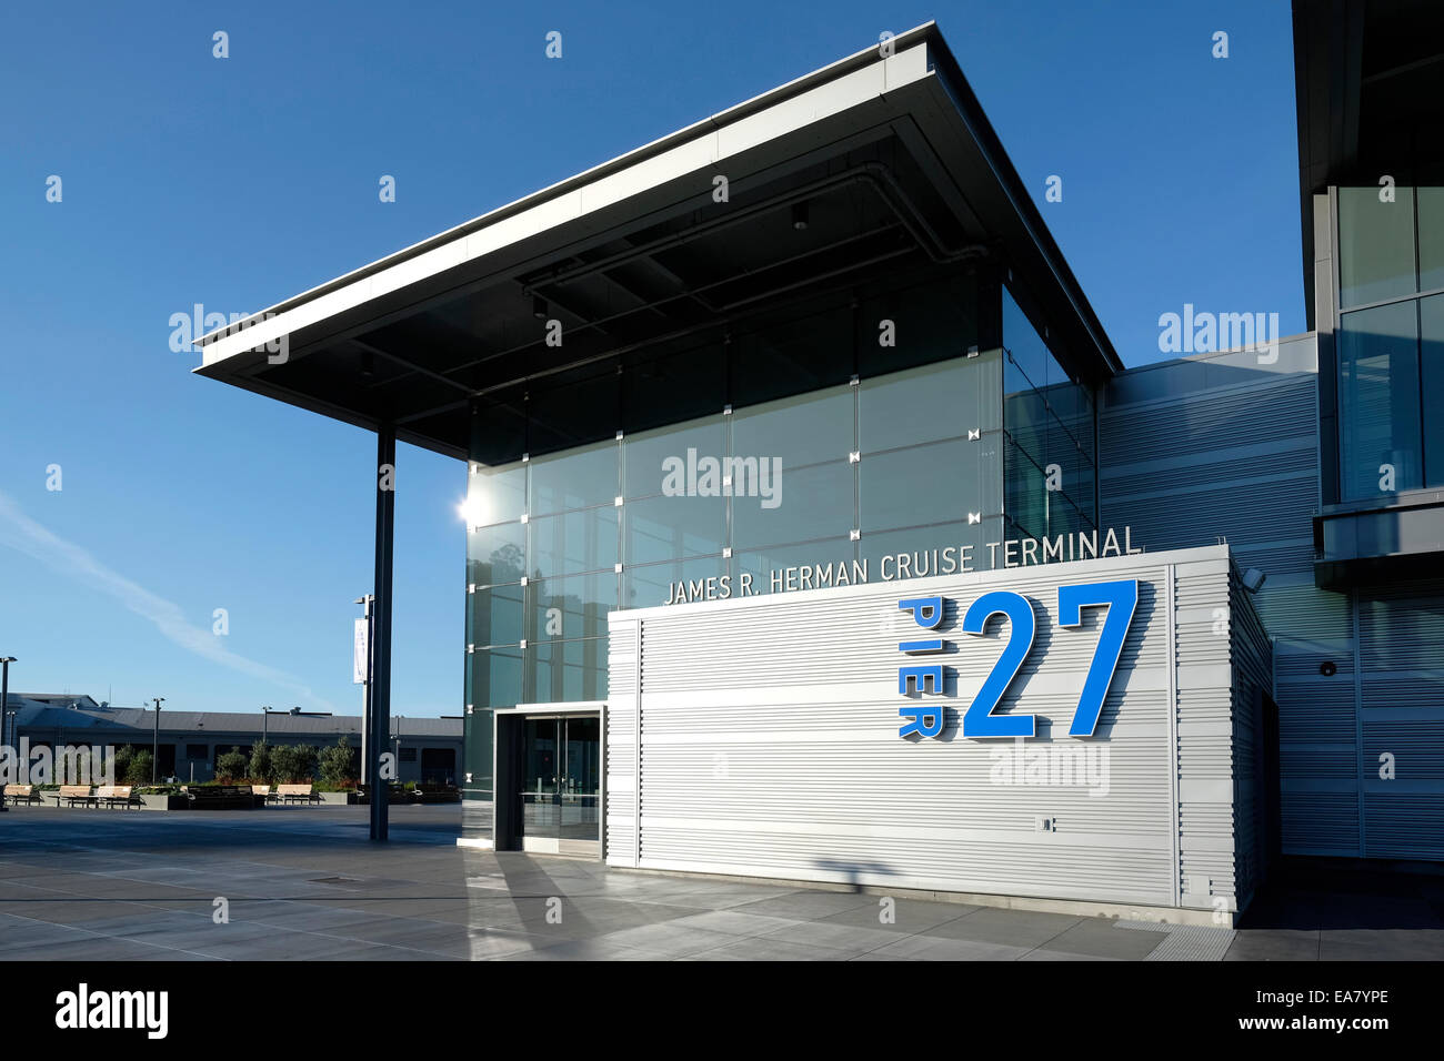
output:
M14 712L14 716L10 716ZM6 743L29 741L30 748L65 745L133 745L149 751L156 742L157 777L209 781L215 762L232 748L247 755L264 739L270 745L312 745L318 751L338 739L357 749L360 771L361 716L316 712L188 712L111 707L90 696L68 693L10 693L6 702ZM461 780L462 720L393 716L387 751L397 758L399 781L456 784Z

